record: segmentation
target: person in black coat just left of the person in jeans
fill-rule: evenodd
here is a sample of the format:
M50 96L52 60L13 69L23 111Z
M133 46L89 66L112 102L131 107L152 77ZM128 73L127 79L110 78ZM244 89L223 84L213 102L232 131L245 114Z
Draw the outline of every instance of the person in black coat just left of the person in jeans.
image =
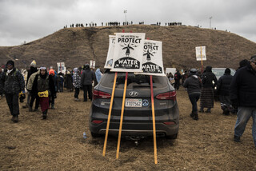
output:
M229 115L230 112L234 113L234 109L230 104L230 84L233 76L230 74L231 70L226 68L224 75L218 79L217 92L219 101L221 102L221 108L224 115Z

